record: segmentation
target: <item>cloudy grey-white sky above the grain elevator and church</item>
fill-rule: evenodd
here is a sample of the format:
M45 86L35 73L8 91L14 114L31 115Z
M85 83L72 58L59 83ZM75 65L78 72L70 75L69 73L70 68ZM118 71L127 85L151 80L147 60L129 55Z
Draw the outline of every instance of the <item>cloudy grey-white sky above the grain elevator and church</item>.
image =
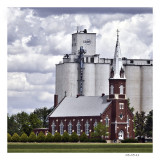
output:
M152 58L152 8L8 8L8 113L52 107L55 64L71 53L76 27L97 33L97 54Z

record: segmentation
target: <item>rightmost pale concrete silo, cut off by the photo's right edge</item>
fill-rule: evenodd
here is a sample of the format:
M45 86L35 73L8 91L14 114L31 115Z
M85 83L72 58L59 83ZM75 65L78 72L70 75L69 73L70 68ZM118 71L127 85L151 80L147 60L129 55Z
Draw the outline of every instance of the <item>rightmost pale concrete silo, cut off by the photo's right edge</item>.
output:
M153 109L153 67L142 66L142 111L146 114Z

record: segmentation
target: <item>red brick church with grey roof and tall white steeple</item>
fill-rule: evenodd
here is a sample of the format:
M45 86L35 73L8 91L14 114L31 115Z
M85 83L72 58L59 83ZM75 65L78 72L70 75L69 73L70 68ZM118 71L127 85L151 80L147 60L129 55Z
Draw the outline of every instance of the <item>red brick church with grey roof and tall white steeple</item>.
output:
M83 58L83 47L80 48L80 57ZM79 62L82 76L82 61ZM80 80L80 86L83 80ZM100 96L83 96L81 89L76 97L64 96L58 101L55 95L55 105L49 115L49 132L52 135L59 132L61 135L67 131L70 135L83 132L90 136L98 122L108 126L106 140L123 140L134 138L133 114L128 108L126 95L126 77L122 64L122 57L117 30L117 42L113 65L110 70L109 95L102 93Z

